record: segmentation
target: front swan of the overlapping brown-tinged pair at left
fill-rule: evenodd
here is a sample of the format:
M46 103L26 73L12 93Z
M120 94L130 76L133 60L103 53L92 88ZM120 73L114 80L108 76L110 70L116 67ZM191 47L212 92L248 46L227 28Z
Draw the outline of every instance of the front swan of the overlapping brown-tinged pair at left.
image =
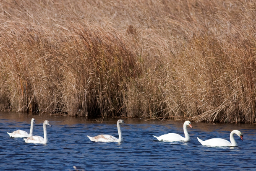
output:
M49 121L45 120L44 121L44 138L40 136L32 136L28 138L24 138L26 143L35 143L35 144L47 144L49 142L48 137L47 137L47 127L46 125L49 125L50 127L52 126Z

